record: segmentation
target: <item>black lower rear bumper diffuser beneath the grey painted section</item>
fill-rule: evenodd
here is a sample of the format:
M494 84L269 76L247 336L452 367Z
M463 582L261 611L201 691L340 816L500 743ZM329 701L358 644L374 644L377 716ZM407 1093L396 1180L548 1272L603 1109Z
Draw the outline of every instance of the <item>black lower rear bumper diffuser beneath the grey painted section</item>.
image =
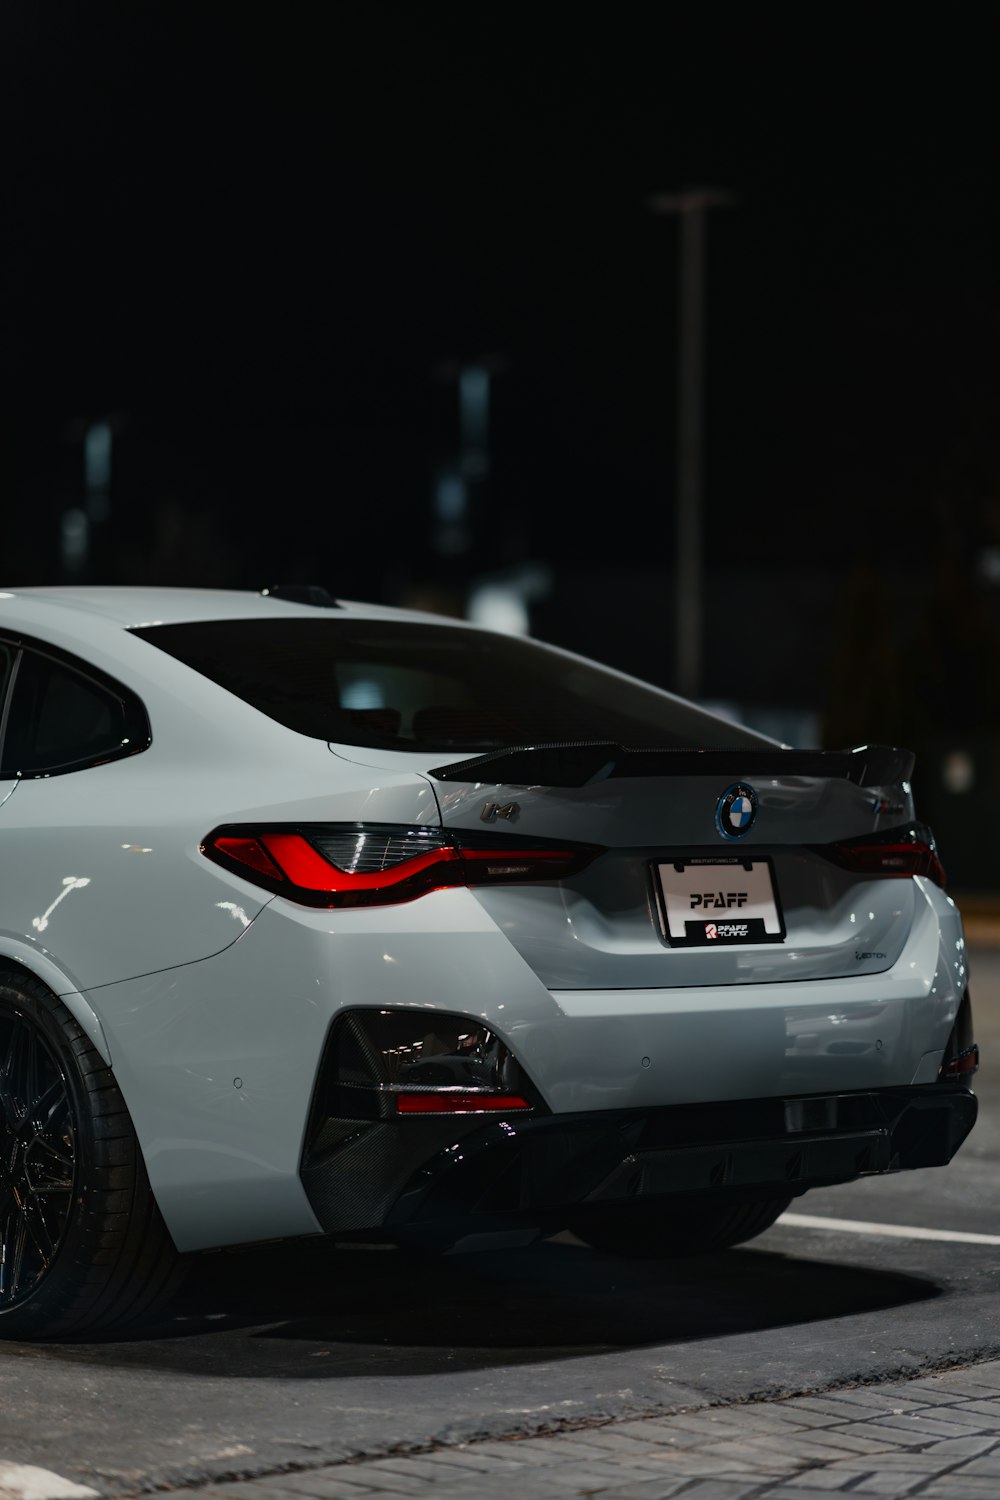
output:
M340 1142L307 1152L303 1186L327 1233L454 1242L609 1214L657 1216L679 1196L796 1197L940 1167L976 1112L969 1089L927 1084L489 1125L339 1122Z

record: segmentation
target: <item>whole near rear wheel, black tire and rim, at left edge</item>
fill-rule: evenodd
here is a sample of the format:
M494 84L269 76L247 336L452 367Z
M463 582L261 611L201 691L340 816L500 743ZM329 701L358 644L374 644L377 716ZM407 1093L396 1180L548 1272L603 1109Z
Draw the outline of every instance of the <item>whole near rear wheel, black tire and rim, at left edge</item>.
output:
M147 1320L180 1264L111 1068L51 990L0 972L0 1338Z

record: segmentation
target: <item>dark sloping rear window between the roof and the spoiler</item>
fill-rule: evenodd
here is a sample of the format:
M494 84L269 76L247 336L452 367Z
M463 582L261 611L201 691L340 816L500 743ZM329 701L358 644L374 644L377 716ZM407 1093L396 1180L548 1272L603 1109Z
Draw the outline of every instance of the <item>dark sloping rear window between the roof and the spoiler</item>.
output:
M288 729L334 744L493 750L759 742L693 705L517 636L369 620L211 620L136 636Z

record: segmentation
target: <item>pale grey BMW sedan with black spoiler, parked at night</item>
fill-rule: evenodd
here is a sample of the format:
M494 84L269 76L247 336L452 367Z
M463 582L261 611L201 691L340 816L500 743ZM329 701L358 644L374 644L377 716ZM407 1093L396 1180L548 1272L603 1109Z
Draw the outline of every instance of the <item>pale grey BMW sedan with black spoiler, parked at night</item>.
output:
M717 1250L976 1118L912 756L321 590L0 596L0 1332L178 1257Z

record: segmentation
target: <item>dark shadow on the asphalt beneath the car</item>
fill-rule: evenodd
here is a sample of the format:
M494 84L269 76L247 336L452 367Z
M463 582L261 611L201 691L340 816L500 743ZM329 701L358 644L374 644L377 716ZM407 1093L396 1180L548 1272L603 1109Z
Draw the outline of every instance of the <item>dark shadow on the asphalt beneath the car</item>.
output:
M748 1248L637 1262L568 1239L436 1260L273 1245L199 1257L160 1324L58 1353L216 1377L426 1376L669 1347L939 1294L918 1276Z

